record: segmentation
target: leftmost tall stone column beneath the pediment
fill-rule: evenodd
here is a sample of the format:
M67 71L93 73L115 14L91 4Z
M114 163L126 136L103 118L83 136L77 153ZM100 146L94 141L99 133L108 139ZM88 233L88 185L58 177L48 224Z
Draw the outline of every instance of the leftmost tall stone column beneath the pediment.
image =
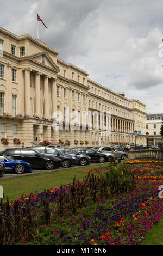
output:
M24 100L25 100L25 116L30 117L30 69L25 69L24 83Z

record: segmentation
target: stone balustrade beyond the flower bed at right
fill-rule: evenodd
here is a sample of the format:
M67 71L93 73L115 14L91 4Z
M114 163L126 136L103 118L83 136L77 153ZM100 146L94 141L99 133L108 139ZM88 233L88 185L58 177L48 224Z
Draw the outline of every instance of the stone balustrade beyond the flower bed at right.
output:
M163 151L156 149L143 149L143 150L133 150L129 151L129 159L158 159L163 160Z

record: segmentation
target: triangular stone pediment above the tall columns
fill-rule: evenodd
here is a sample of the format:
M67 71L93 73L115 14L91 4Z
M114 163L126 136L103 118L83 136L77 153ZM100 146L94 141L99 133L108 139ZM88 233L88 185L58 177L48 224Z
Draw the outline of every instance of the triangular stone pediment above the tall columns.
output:
M34 62L41 63L48 68L54 69L55 72L59 72L59 67L53 62L52 58L49 56L47 52L39 52L31 55L29 57L30 60Z

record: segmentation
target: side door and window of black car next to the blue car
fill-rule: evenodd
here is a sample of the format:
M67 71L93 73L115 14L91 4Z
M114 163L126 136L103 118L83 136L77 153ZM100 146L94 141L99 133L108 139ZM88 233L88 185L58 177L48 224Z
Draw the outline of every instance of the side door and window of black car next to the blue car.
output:
M21 149L22 160L32 164L33 168L43 168L44 157L32 149Z

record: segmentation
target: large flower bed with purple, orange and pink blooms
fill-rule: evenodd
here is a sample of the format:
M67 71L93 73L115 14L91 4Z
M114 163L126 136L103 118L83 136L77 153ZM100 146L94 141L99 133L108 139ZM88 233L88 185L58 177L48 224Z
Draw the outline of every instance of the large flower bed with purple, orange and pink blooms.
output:
M163 202L158 197L162 168L161 161L127 161L120 166L120 175L126 177L128 192L121 193L118 186L114 196L110 196L102 179L103 175L109 177L105 181L112 179L109 165L88 170L82 182L73 180L60 188L7 202L0 215L0 237L7 237L4 226L10 223L12 229L10 220L16 218L14 223L20 225L17 232L23 225L16 244L139 245L163 212ZM5 244L4 238L0 244L2 239Z

